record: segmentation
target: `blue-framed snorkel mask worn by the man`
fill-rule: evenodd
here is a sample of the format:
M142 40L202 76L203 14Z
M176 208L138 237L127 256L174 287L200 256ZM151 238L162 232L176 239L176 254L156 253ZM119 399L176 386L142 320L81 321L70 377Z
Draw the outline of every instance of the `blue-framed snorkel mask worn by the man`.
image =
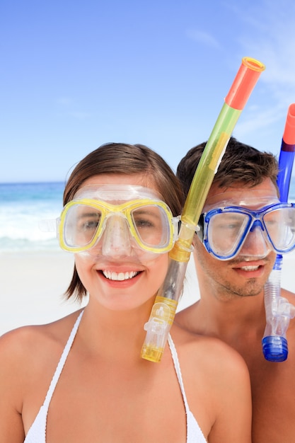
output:
M239 253L260 258L270 251L287 253L295 248L295 205L276 202L257 210L217 207L201 214L196 234L219 260L231 260ZM255 241L255 251L251 248L248 253L250 240Z

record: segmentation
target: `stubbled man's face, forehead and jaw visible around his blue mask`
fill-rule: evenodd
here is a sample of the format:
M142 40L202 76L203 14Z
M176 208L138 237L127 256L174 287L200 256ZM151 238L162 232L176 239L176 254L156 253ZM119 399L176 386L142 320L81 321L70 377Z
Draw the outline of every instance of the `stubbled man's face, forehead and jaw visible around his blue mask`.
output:
M270 178L254 188L245 188L241 183L236 183L232 188L219 188L214 184L203 212L225 205L258 210L275 202L278 202L277 189ZM230 260L219 260L208 253L197 236L193 244L201 284L206 282L216 296L224 294L226 298L260 294L276 258L276 253L265 243L259 227L246 236L238 255Z

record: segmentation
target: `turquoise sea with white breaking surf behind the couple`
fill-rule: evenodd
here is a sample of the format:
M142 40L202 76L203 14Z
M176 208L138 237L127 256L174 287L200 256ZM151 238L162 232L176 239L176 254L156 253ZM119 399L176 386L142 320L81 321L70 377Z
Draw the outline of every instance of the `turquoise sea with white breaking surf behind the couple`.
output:
M44 221L59 217L63 192L64 182L0 183L0 253L59 251L56 233L45 231ZM289 202L295 202L295 176Z

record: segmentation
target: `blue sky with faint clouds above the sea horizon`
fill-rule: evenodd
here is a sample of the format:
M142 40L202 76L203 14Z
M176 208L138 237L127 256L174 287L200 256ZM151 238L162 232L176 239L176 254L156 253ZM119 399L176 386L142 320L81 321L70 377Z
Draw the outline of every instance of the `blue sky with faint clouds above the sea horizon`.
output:
M0 182L65 180L106 142L175 170L245 56L266 65L233 135L279 154L295 102L294 0L2 0Z

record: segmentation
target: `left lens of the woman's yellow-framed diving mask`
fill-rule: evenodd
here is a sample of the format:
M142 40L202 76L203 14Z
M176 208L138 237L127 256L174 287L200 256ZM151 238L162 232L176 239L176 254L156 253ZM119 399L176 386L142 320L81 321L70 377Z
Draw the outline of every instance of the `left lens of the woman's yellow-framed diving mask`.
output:
M64 217L64 243L68 248L81 248L93 241L101 221L101 211L88 205L72 205Z

